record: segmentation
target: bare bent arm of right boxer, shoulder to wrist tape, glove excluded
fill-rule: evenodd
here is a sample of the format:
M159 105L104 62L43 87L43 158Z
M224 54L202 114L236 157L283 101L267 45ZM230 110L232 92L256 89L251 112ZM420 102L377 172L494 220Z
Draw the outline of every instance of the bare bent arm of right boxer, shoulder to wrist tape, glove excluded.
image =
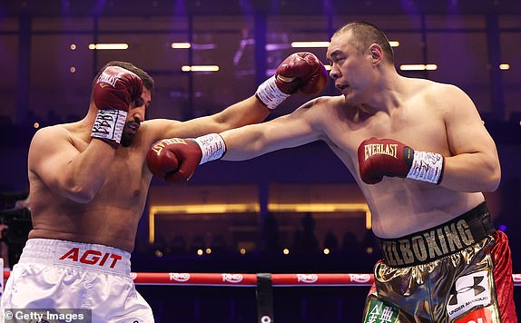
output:
M456 191L495 191L501 180L496 143L466 93L446 85L437 95L447 128L451 156L445 158L441 185Z

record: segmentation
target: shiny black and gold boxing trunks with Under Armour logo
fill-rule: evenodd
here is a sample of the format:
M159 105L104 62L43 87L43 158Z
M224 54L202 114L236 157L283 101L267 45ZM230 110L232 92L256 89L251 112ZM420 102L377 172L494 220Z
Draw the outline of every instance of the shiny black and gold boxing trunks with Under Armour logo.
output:
M508 239L485 202L380 246L364 322L517 322Z

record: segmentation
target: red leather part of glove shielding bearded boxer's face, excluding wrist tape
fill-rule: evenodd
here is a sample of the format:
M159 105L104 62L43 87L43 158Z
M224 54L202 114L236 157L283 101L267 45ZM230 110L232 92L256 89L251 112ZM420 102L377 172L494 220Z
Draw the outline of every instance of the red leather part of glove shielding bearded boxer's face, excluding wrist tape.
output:
M100 110L128 112L130 104L141 98L142 93L143 81L138 75L123 67L109 66L94 83L93 99Z

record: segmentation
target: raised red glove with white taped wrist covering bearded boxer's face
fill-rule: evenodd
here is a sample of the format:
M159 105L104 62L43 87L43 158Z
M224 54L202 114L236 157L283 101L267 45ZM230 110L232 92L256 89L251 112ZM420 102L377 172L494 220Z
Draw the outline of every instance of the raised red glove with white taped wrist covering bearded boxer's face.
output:
M138 75L119 66L105 68L93 87L93 101L99 111L91 136L117 147L129 106L142 93L143 81Z

